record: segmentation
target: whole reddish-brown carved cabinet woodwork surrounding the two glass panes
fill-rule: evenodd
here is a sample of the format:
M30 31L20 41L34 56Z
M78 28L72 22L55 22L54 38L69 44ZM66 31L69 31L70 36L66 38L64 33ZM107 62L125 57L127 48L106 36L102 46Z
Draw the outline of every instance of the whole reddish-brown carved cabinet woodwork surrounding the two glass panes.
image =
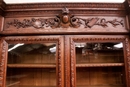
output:
M19 42L56 42L59 53L57 87L76 87L74 42L84 41L124 43L126 83L129 87L129 5L130 0L124 3L31 4L6 4L0 1L0 87L5 87L6 83L8 44ZM119 65L122 66L105 66ZM102 65L86 65L90 66Z

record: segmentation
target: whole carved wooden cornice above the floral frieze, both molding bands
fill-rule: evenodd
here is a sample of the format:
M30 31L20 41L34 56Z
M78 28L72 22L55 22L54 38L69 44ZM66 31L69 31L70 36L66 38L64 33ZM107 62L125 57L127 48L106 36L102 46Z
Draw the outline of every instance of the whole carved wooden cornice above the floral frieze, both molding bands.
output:
M6 6L5 16L46 16L59 14L63 7L80 15L125 15L123 3L35 3Z

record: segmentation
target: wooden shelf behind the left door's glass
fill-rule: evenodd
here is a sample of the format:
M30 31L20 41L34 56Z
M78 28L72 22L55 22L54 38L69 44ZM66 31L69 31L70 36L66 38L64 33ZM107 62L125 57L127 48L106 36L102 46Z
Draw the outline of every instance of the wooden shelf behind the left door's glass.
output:
M56 68L56 64L8 64L8 68Z

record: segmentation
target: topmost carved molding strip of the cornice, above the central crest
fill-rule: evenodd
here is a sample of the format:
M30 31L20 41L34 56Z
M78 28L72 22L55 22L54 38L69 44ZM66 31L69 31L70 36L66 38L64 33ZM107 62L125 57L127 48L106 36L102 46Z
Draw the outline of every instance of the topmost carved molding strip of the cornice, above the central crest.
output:
M35 9L35 8L122 8L122 3L38 3L38 4L11 4L7 5L7 10L13 9Z

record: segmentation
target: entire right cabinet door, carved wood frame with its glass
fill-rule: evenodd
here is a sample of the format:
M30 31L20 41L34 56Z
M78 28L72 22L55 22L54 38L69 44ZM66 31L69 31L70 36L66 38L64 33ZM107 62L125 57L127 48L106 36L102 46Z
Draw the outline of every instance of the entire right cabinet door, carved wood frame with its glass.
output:
M127 37L73 35L67 38L70 87L129 87Z

